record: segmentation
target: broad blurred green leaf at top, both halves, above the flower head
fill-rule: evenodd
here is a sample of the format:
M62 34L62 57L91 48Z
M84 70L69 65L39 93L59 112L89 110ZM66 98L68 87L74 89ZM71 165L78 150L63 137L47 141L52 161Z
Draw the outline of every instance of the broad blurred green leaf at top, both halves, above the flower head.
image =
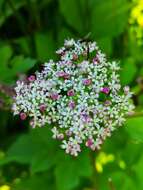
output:
M91 32L94 38L114 37L124 31L128 22L127 0L60 0L59 2L64 19L81 36L86 35L85 32Z

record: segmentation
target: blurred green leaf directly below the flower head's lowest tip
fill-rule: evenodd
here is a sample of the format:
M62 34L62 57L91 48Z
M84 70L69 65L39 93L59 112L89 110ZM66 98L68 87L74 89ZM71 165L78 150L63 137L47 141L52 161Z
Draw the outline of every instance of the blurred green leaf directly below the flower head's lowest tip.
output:
M73 189L78 186L81 177L90 177L91 174L89 154L81 153L77 158L62 155L55 168L57 189Z

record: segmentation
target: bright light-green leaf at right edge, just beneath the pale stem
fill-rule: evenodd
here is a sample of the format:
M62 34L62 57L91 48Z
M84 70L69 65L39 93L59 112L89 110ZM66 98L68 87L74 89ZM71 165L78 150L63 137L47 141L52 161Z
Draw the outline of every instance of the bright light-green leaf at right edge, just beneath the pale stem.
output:
M143 117L128 119L125 127L134 142L143 143Z

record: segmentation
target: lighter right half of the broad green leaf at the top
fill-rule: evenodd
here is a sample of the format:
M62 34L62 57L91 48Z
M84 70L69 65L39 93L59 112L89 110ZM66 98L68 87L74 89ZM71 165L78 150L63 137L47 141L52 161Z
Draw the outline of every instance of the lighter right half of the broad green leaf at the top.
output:
M127 0L91 0L90 11L94 38L118 36L128 22Z

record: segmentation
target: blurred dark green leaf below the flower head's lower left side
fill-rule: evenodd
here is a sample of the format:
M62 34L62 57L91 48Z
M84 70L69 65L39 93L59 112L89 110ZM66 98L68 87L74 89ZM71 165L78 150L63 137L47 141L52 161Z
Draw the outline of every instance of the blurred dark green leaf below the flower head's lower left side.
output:
M29 134L20 136L12 144L4 163L15 161L29 164L32 173L45 171L55 164L56 149L56 142L50 138L48 127L34 129Z

